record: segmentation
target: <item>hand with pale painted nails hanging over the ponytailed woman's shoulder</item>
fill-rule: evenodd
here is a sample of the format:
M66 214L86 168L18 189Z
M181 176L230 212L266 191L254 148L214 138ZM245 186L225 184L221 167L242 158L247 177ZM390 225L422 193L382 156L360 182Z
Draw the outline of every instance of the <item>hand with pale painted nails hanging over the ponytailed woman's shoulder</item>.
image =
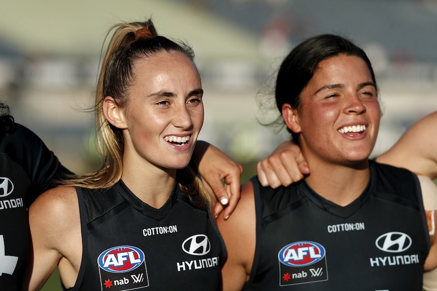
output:
M243 167L221 150L204 141L197 141L191 165L213 191L210 194L214 200L218 199L221 202L215 204L215 215L218 216L226 206L223 218L227 219L240 199L240 177ZM225 181L224 185L222 179Z

